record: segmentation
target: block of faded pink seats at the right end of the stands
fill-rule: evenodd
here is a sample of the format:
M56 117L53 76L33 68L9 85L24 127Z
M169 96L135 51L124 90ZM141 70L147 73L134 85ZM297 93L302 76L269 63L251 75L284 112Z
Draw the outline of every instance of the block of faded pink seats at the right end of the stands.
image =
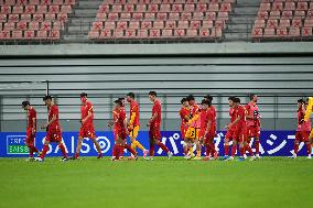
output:
M312 0L262 0L251 31L256 41L312 37Z

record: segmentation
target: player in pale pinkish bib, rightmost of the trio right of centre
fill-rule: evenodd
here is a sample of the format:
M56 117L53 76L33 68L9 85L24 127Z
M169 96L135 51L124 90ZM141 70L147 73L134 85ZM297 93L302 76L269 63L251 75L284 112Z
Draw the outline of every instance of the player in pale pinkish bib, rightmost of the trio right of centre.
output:
M255 94L249 95L250 101L246 105L247 110L247 127L248 127L248 144L250 144L251 139L255 139L256 145L256 157L260 158L260 130L261 121L259 107L257 106L258 96Z

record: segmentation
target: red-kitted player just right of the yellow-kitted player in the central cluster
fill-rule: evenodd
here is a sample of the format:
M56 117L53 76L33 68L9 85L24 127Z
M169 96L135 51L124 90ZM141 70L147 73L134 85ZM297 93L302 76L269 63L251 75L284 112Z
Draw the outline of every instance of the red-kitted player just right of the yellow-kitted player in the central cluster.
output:
M213 153L214 158L217 158L217 152L214 145L214 136L216 134L216 118L215 112L211 108L211 101L208 99L202 100L202 111L201 111L201 131L199 131L199 142L206 149L205 161L209 160L209 153Z

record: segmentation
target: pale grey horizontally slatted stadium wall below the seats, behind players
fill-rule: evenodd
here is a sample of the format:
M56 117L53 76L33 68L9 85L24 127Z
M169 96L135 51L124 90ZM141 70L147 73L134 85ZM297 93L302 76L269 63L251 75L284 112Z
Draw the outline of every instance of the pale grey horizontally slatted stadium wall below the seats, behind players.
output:
M296 99L312 92L312 48L311 43L1 46L0 130L24 131L24 99L36 106L40 122L45 120L45 80L60 105L65 131L79 127L82 91L95 105L99 131L108 130L112 100L136 92L145 129L149 90L156 90L164 103L163 130L179 129L180 99L188 94L197 101L205 94L215 97L223 130L227 97L236 95L247 102L249 92L260 96L263 129L294 130Z

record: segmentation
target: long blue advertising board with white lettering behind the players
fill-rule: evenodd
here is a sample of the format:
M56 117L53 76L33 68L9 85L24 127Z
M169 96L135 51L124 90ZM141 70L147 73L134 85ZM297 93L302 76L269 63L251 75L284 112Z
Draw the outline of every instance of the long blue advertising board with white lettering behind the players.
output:
M225 131L219 131L215 138L215 145L220 155L224 153ZM262 131L260 153L263 156L289 156L293 153L294 131ZM37 132L35 145L41 150L43 146L45 132ZM63 141L69 155L75 153L78 132L63 132ZM112 132L97 132L98 142L105 156L110 156L114 144ZM24 144L24 132L0 132L0 156L1 157L20 157L28 156L28 147ZM138 141L145 149L149 149L148 132L141 131ZM177 131L163 131L162 142L174 153L175 156L183 155L183 141L181 133ZM253 150L253 146L252 146ZM255 150L253 150L255 151ZM138 151L142 155L141 151ZM299 155L305 155L306 150L303 143L299 146ZM85 139L80 151L80 156L96 156L97 151L93 141ZM126 152L126 155L129 155ZM165 155L161 149L155 149L155 155ZM55 143L50 144L47 156L61 156L61 151Z

